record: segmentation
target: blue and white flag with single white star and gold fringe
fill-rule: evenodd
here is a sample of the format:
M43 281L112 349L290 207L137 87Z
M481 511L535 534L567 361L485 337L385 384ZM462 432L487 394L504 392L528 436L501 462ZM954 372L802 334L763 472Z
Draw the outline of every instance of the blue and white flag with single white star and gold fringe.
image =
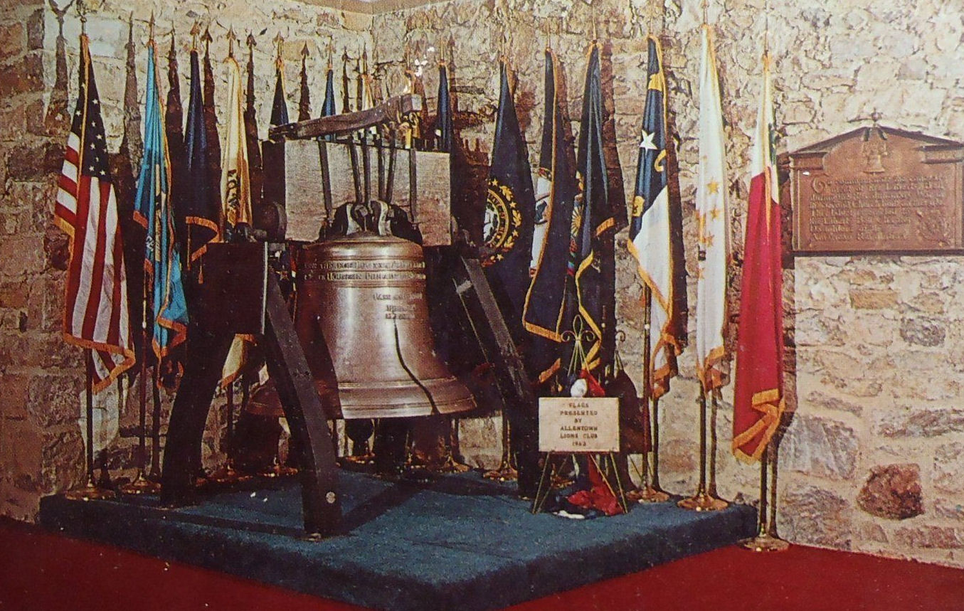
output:
M652 295L650 329L650 390L658 398L677 374L679 343L675 334L673 235L671 231L666 129L666 79L662 51L655 36L647 38L646 106L640 134L636 188L629 220L629 252Z

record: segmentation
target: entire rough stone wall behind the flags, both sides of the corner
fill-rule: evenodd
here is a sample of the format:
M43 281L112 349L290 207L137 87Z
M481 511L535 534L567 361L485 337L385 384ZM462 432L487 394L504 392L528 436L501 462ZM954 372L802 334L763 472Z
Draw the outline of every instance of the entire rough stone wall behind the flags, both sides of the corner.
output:
M497 96L497 58L503 47L518 77L522 127L535 161L542 119L542 53L547 19L552 45L568 76L570 114L581 104L584 50L592 31L605 41L619 161L627 192L634 176L645 92L645 41L629 4L597 0L453 0L423 9L378 15L339 13L293 1L263 8L237 0L217 3L106 0L88 23L112 150L120 142L125 20L134 11L138 74L143 96L146 22L157 16L166 49L172 21L186 66L186 33L195 19L213 23L212 54L224 57L228 26L254 31L259 44L256 95L262 134L272 83L270 40L286 36L290 103L297 96L300 50L308 42L315 105L322 94L323 52L329 36L357 56L377 49L373 61L389 89L403 83L405 50L434 66L438 49L454 40L453 84L463 111L480 124L463 131L491 146ZM711 3L722 81L733 214L733 244L742 250L749 134L756 117L763 47L763 0ZM641 3L637 8L642 12ZM662 32L670 88L669 107L680 141L680 179L687 244L692 222L696 162L696 87L699 3L666 0ZM561 24L561 32L559 25ZM957 66L964 23L938 0L894 8L863 0L774 3L769 18L774 56L778 150L794 150L866 124L878 111L887 125L964 140L964 96ZM42 493L63 490L81 475L79 351L60 339L63 278L44 246L66 126L58 120L54 50L57 19L42 3L0 3L0 512L32 518ZM262 34L262 30L264 33ZM75 15L67 15L70 94L77 63ZM163 33L161 35L160 33ZM508 36L503 40L503 34ZM163 63L162 63L163 66ZM433 69L426 88L435 92ZM220 91L224 75L219 72ZM182 92L186 92L182 82ZM56 96L54 96L56 97ZM221 100L219 99L219 102ZM69 102L72 104L71 101ZM44 119L44 120L41 120ZM49 119L49 120L45 120ZM577 133L578 125L574 124ZM625 237L625 236L624 236ZM690 279L695 252L687 250ZM641 292L629 255L619 254L619 315L628 333L622 347L630 372L640 363ZM956 399L964 384L964 273L956 257L798 258L785 275L789 344L790 418L781 448L781 532L791 541L913 557L964 566L964 412ZM693 286L690 299L694 299ZM734 312L738 302L734 303ZM794 350L795 348L795 350ZM665 488L689 493L696 486L697 385L692 349L681 358L682 376L661 402ZM635 376L638 381L638 375ZM105 396L114 393L105 393ZM755 499L758 471L728 451L732 386L724 393L718 432L719 488L731 499ZM109 399L103 399L108 401ZM116 401L116 399L114 399ZM104 412L109 412L106 410ZM129 446L131 410L104 441ZM125 420L124 418L128 418ZM212 421L212 428L219 422ZM497 420L468 421L462 442L473 462L498 462ZM212 441L209 448L216 459ZM864 491L866 485L866 491ZM921 513L923 512L923 513Z

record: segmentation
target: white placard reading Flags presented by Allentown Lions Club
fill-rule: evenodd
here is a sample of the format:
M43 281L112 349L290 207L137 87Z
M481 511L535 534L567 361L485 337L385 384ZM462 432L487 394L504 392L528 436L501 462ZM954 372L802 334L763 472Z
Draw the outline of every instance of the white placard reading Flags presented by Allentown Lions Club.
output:
M540 452L619 452L619 399L539 399Z

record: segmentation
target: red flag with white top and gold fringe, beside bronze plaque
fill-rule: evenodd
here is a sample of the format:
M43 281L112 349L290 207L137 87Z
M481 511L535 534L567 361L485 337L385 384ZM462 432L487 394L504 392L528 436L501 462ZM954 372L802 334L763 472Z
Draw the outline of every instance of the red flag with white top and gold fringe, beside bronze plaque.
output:
M770 58L764 53L736 332L733 451L745 462L760 460L784 412L783 269L772 87Z

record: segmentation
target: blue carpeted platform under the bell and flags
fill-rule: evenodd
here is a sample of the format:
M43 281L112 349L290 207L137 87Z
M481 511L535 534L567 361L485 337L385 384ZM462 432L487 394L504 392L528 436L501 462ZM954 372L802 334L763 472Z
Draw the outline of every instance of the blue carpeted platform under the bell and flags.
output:
M512 489L477 474L429 485L342 471L343 536L301 539L295 481L161 509L156 498L70 501L49 496L40 522L120 545L354 604L392 610L497 609L731 545L756 532L746 506L695 513L675 503L625 516L533 516Z

